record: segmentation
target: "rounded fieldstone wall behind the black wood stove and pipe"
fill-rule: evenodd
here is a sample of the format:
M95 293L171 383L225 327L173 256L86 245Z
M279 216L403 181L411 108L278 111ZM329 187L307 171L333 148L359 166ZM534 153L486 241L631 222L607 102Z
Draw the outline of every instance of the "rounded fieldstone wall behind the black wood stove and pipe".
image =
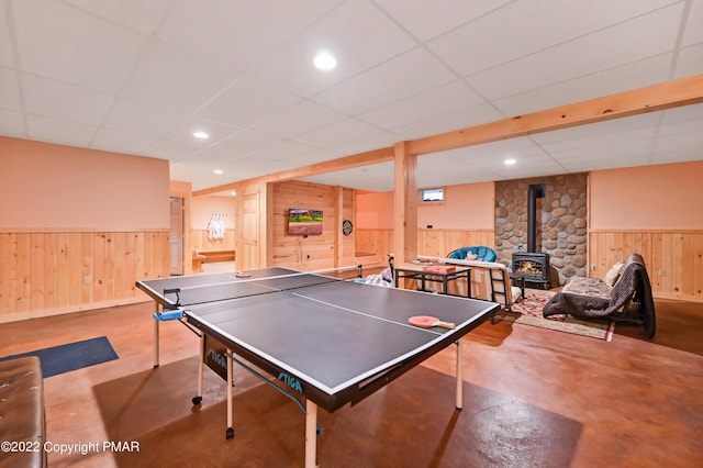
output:
M573 276L588 276L588 174L538 177L495 182L495 253L511 265L513 252L527 250L527 190L545 185L537 199L537 252L550 255L551 277L563 285ZM553 279L553 286L555 285Z

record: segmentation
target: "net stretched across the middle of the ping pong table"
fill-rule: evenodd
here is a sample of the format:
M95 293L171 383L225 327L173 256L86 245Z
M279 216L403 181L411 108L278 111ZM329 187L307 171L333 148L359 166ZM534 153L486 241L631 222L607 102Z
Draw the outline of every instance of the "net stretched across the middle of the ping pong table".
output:
M325 271L331 272L338 270ZM220 280L221 279L222 277L220 277ZM322 272L304 271L257 277L255 270L248 278L238 278L232 274L231 280L226 281L164 289L164 299L170 302L172 308L187 308L189 305L270 294L346 280L348 279L322 275Z

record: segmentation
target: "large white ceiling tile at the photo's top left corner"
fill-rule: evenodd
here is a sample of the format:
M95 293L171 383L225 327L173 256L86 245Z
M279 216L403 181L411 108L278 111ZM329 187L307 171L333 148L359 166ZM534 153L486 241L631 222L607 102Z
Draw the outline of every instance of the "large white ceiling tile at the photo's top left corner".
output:
M147 41L57 1L13 2L12 12L25 71L97 91L118 92Z

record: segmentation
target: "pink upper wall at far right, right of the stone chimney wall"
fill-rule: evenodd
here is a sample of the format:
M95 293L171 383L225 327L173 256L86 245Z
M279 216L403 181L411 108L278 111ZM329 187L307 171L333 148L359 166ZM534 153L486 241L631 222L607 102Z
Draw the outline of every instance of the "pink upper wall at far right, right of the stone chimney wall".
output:
M701 230L703 160L591 172L589 201L591 230Z

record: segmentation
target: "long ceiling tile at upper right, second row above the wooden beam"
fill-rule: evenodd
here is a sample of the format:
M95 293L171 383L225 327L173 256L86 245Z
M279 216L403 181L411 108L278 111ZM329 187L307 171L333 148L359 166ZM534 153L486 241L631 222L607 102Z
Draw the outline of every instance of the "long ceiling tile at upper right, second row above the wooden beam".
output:
M681 8L674 4L658 10L471 75L467 80L488 99L501 99L668 53L676 44Z

